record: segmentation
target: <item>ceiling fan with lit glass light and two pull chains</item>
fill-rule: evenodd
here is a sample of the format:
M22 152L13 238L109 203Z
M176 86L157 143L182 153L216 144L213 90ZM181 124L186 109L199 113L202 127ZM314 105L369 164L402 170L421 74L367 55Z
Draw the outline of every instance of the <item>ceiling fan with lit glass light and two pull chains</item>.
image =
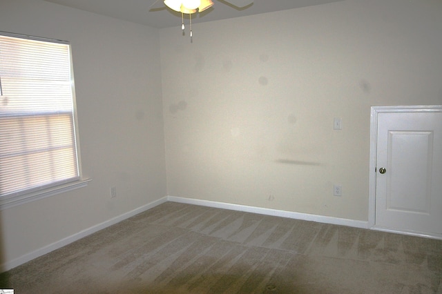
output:
M152 5L154 6L158 1L156 0ZM251 6L253 3L253 0L220 0L221 3L224 3L228 6L231 6L233 8L236 8L238 10L242 8L247 8L247 6ZM192 38L192 17L191 15L196 12L203 12L204 10L207 10L208 8L211 8L213 6L213 1L211 0L164 0L163 1L165 7L164 8L170 8L171 10L174 10L176 12L181 13L182 17L182 30L184 34L184 14L189 14L190 19L190 37Z

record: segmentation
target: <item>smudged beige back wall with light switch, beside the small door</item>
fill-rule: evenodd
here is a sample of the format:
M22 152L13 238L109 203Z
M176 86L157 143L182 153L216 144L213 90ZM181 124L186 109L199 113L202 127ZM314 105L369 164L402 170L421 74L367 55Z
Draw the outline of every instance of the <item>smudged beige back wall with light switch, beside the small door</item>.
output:
M367 221L370 106L442 104L441 15L341 1L161 30L168 195Z

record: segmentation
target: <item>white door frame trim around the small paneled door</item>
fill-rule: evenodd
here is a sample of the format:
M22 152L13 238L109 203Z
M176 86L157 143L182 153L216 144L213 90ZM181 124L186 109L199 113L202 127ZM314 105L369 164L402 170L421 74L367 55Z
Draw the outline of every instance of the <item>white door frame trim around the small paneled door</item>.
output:
M378 140L378 114L401 113L401 112L442 112L442 106L372 106L370 117L370 155L369 155L369 201L368 201L368 227L373 230L418 235L421 237L436 237L439 235L427 235L398 231L397 229L380 228L376 226L376 146Z

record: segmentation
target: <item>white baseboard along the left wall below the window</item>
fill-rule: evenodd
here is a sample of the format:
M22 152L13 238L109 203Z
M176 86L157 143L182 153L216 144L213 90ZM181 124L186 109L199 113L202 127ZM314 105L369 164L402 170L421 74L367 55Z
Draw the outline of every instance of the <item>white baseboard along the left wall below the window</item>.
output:
M138 213L142 213L148 209L151 209L155 206L163 204L166 201L167 201L167 198L162 197L161 199L155 200L154 202L148 203L144 206L140 206L139 208L135 208L134 210L128 211L127 213L123 213L122 215L119 215L117 217L113 217L112 219L108 219L106 222L102 222L101 224L91 226L90 228L86 228L85 230L80 231L79 233L75 233L74 235L70 235L64 239L57 241L57 242L54 242L52 244L49 244L49 245L44 246L42 248L39 248L36 251L32 251L30 253L22 255L21 257L18 257L16 259L12 259L10 262L5 262L4 264L0 264L0 268L3 271L9 271L11 268L15 268L16 266L19 266L21 264L29 262L30 260L40 257L41 255L45 255L46 253L50 253L51 251L55 251L63 246L66 246L72 242L75 242L83 237L86 237L90 234L93 234L97 231L107 228L108 226L112 226L113 224L117 224L118 222L122 222L124 219L128 219L129 217L133 217L134 215L137 215Z

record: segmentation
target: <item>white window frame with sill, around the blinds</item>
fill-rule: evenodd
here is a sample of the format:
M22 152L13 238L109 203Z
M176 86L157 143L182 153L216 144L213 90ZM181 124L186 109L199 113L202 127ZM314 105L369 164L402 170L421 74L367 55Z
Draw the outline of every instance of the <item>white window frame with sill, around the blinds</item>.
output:
M46 197L50 197L52 195L57 195L60 193L65 193L70 190L75 190L77 188L82 188L87 186L91 181L88 177L84 177L81 169L81 152L80 152L80 144L79 144L79 128L78 128L78 117L77 117L77 101L75 95L75 79L74 79L74 70L73 70L73 55L72 55L72 47L70 42L63 41L59 39L49 39L44 37L35 37L30 35L20 35L11 32L3 32L0 31L0 35L6 37L14 37L20 39L29 39L35 41L44 41L50 43L61 43L68 46L68 54L69 54L69 66L70 66L70 87L72 92L72 105L73 105L73 136L75 142L75 149L77 153L77 168L78 168L78 177L74 179L66 179L65 181L61 181L59 183L53 182L52 184L46 184L44 186L29 188L28 190L17 191L17 193L11 193L10 195L0 196L0 210L11 208L17 205L26 204L28 202L33 202L38 199L43 199ZM1 81L0 81L1 83ZM1 84L0 84L1 85ZM3 95L3 93L0 93Z

